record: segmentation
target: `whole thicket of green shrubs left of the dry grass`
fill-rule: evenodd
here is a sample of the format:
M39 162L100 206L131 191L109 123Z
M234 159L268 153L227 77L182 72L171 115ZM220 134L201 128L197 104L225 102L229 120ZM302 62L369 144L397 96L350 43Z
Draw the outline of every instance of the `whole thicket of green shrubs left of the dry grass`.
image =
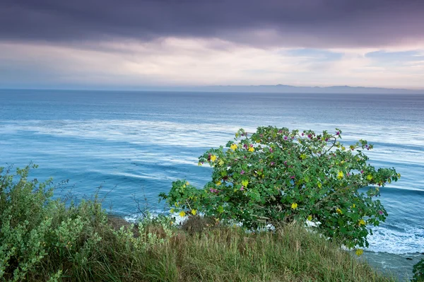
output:
M114 228L96 196L66 206L31 168L0 168L0 281L139 281L135 254L169 240L170 218Z

